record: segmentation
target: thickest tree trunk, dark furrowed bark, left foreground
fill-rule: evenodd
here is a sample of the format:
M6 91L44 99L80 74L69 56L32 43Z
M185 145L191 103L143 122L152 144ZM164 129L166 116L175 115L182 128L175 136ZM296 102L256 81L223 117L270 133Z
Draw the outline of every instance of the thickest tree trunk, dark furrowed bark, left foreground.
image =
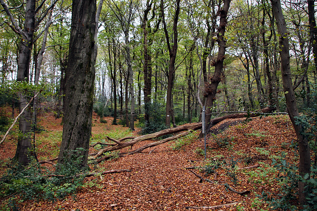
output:
M95 80L96 0L73 0L63 136L58 163L87 165ZM82 149L82 150L80 150Z

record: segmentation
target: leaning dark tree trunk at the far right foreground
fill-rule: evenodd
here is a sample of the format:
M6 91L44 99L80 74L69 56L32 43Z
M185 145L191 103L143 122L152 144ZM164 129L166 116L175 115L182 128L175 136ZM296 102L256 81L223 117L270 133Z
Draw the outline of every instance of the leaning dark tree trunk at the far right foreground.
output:
M288 43L288 33L286 30L286 22L282 13L280 0L271 0L272 10L276 19L277 30L279 37L279 52L281 56L281 74L283 89L286 98L286 105L289 117L292 121L293 127L295 129L298 147L299 147L299 173L302 177L305 174L310 173L311 159L310 159L310 148L308 140L300 133L302 126L296 125L295 118L299 117L299 112L296 105L295 93L293 90L291 72L290 72L290 55L289 55L289 43ZM299 200L302 205L306 204L305 196L308 193L305 192L305 183L299 181Z

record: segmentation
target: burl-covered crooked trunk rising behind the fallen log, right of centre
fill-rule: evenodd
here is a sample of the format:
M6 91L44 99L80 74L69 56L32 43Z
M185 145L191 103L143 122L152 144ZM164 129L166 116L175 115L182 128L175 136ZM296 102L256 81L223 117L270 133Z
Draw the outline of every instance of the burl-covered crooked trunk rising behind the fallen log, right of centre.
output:
M223 1L223 7L219 10L220 22L219 30L217 33L217 42L218 42L218 56L214 64L214 73L210 78L209 84L205 86L205 92L207 93L206 98L206 132L210 130L210 119L211 119L211 107L213 101L215 100L215 94L218 87L218 84L221 80L221 73L223 69L223 60L225 56L226 41L224 40L225 28L227 25L227 13L230 6L230 0Z

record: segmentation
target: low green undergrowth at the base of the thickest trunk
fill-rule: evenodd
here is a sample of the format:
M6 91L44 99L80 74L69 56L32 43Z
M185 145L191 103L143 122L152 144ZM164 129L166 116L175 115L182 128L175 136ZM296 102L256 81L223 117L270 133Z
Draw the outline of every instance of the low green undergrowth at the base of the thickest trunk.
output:
M75 194L78 188L83 186L84 172L87 170L80 164L80 157L66 161L58 165L55 172L41 167L35 161L27 169L21 169L17 165L11 166L0 178L0 197L8 197L8 205L10 209L14 209L17 203L24 200L54 201ZM22 201L16 201L17 197Z

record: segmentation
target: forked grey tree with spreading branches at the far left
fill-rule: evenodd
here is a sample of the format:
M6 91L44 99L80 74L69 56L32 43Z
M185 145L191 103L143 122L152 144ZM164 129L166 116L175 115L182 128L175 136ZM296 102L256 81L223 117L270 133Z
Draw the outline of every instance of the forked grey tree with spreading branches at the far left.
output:
M22 8L25 9L23 29L14 19L7 4L3 0L0 0L0 2L10 20L10 23L6 22L6 24L8 24L13 32L15 32L20 37L19 53L17 58L17 81L29 83L32 46L33 43L42 35L42 33L46 29L44 29L43 32L40 32L36 38L34 38L34 32L36 31L36 28L39 27L41 21L43 21L43 19L47 16L57 0L52 1L51 6L44 9L44 12L37 20L35 16L41 10L45 1L40 3L38 7L36 7L36 0L26 0L25 7L23 7L23 4L21 4L20 7L22 6ZM47 27L49 27L49 25ZM27 92L28 90L25 90L24 93L18 93L19 112L23 110L23 108L27 105L29 101ZM27 166L31 162L31 119L31 111L30 109L26 109L21 115L19 121L19 130L21 133L18 138L14 159L22 166Z

